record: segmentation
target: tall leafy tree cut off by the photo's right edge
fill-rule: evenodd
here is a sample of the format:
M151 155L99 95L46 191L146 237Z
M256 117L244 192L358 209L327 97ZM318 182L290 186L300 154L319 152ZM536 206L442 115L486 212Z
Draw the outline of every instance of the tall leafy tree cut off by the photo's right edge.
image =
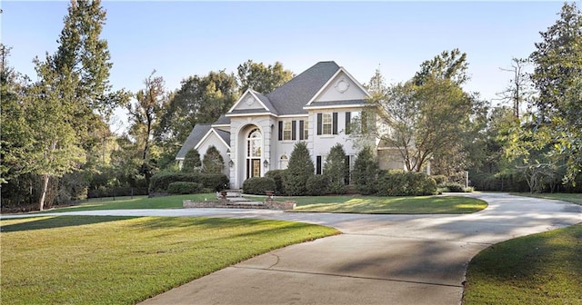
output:
M564 4L556 24L541 32L542 42L529 57L537 89L534 129L547 136L552 154L566 158L566 181L582 171L582 13L576 3Z

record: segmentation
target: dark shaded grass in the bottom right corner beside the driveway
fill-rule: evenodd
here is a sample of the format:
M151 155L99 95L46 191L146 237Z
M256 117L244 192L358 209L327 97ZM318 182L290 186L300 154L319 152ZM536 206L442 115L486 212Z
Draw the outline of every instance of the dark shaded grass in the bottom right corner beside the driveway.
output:
M468 265L463 304L581 304L582 223L504 241Z

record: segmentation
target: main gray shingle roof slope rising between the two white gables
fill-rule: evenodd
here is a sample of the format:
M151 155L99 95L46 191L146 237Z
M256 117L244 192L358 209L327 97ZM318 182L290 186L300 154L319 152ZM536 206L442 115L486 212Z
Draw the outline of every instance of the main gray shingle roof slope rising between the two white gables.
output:
M307 113L303 107L339 68L336 62L319 62L272 93L267 93L266 97L275 106L276 114Z

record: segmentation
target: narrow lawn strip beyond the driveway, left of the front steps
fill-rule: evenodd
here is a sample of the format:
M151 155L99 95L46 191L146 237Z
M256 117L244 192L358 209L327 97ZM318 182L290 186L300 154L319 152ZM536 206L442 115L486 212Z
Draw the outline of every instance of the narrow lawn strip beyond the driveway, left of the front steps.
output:
M215 193L201 193L192 195L176 195L164 197L139 197L116 199L115 201L86 202L79 205L47 210L44 212L73 212L73 211L95 211L95 210L124 210L124 209L179 209L182 208L182 201L190 199L194 201L216 200ZM42 212L41 212L42 213Z

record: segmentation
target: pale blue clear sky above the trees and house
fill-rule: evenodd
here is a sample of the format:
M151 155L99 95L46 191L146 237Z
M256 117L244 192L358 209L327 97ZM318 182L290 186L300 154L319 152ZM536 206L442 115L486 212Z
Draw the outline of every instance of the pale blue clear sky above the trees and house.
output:
M577 1L579 5L580 1ZM55 53L67 1L2 1L2 43L10 64L35 79L32 59ZM156 69L175 90L248 59L299 74L336 61L360 83L380 67L387 83L404 82L444 50L467 53L468 91L492 99L507 85L500 71L527 57L557 18L562 2L151 2L105 1L102 37L111 84L132 92ZM125 117L118 112L122 120ZM125 123L126 126L126 123Z

